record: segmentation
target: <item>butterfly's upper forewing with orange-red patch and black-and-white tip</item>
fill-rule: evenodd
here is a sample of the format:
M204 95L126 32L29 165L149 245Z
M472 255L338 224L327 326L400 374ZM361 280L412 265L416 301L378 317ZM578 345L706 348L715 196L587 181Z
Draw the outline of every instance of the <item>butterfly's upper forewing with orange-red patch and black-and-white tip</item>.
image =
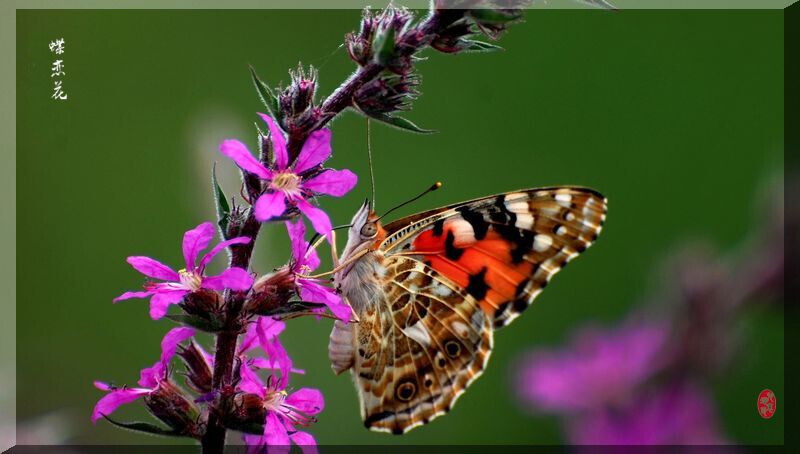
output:
M395 221L381 248L450 279L501 327L592 244L605 211L605 198L590 189L517 191Z

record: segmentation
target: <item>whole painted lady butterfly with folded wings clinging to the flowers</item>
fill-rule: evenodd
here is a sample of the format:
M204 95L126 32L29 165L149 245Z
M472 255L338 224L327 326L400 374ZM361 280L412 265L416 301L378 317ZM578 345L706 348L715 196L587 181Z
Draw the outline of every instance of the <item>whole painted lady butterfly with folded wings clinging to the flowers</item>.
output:
M334 323L364 425L402 434L448 412L517 318L597 238L606 199L580 187L509 192L382 225L355 214L334 281L357 322Z

